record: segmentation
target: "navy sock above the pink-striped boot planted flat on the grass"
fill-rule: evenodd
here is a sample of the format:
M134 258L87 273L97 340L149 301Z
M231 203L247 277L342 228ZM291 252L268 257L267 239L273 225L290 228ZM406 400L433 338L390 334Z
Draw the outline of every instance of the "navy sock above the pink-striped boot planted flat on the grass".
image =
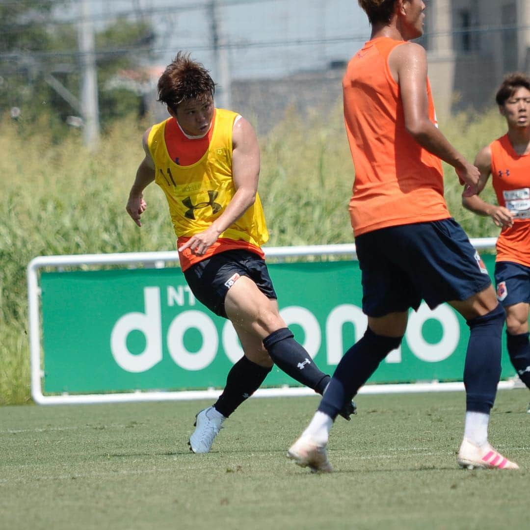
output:
M501 334L506 314L501 305L467 321L470 328L464 366L466 410L489 414L500 379Z

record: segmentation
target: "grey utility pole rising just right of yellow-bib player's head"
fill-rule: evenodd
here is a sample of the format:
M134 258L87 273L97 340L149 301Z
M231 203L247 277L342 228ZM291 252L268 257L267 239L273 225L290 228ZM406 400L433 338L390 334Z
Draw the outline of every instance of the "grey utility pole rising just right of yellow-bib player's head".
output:
M223 109L230 109L232 105L232 83L228 60L228 46L223 28L219 0L210 0L208 5L211 23L211 40L214 48L215 72L219 82L216 91L216 105Z

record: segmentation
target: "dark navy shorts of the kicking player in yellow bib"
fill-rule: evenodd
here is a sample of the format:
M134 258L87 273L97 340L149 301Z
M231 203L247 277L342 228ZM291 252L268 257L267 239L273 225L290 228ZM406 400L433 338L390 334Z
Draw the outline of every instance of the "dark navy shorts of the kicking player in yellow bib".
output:
M219 252L184 271L193 296L210 311L225 319L226 293L240 276L248 276L267 298L278 298L267 264L258 254L248 250Z

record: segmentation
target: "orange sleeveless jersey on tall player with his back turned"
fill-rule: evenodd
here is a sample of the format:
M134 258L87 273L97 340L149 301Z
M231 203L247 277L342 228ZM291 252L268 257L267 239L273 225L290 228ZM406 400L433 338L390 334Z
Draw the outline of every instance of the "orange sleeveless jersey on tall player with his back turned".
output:
M400 89L388 56L405 41L379 37L350 60L342 81L355 181L349 210L354 234L450 217L441 162L405 129ZM429 119L436 125L429 81Z

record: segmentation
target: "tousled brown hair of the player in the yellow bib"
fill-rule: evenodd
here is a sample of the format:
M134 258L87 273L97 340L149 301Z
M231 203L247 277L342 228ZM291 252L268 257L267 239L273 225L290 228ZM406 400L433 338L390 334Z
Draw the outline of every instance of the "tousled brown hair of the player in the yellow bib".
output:
M183 101L213 98L215 83L202 64L191 60L189 53L179 51L160 76L157 90L158 101L176 112Z

